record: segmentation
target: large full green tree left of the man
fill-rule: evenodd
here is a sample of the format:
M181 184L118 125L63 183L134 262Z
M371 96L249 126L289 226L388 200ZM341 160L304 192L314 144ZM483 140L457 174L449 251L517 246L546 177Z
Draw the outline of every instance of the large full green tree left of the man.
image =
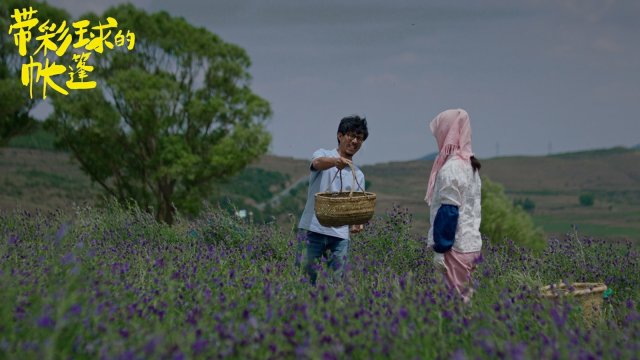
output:
M108 9L133 49L92 53L95 89L54 95L48 127L107 194L174 221L196 212L215 180L263 155L267 101L249 87L246 52L166 12ZM115 33L115 31L114 31ZM131 39L129 39L131 40Z

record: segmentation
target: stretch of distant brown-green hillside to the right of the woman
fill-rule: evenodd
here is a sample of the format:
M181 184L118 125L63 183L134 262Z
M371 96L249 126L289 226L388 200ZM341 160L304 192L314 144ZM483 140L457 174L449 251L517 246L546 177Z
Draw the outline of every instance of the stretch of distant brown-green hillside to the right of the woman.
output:
M572 224L582 234L640 240L640 151L623 148L486 161L485 174L510 197L530 198L547 233ZM580 196L591 194L592 206Z

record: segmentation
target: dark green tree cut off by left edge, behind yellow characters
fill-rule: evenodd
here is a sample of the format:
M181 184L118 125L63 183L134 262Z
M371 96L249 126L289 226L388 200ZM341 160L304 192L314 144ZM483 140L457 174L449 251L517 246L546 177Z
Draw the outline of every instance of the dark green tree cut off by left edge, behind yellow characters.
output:
M14 10L19 11L32 7L37 13L33 14L33 18L38 23L30 30L31 37L26 42L26 55L19 54L19 48L16 45L16 35L18 29L10 27L16 23L11 16ZM9 141L18 135L22 135L33 129L36 120L30 115L31 110L42 101L40 94L40 84L34 85L34 96L29 95L29 89L21 83L20 76L22 65L27 62L29 56L34 56L40 45L37 39L38 27L43 22L49 20L52 23L62 24L67 21L69 25L69 14L56 7L42 3L39 1L25 0L3 0L0 2L0 147L6 146ZM34 61L44 62L43 52L39 51L34 56ZM52 57L55 60L55 57Z

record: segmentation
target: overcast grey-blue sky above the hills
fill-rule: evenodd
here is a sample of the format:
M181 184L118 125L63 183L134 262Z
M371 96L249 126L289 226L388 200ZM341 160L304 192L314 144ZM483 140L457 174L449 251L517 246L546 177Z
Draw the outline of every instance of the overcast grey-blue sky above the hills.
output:
M49 1L74 17L121 2ZM360 114L356 163L416 159L437 151L428 122L457 107L480 159L640 143L637 0L132 3L248 52L276 155L333 148L339 120Z

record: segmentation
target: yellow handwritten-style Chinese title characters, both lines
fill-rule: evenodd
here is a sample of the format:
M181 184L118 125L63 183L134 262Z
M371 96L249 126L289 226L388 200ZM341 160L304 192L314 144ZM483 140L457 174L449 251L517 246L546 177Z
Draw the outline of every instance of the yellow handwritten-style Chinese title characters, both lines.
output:
M128 51L135 46L135 34L129 30L123 33L118 29L118 21L107 17L106 23L98 21L92 24L89 20L79 20L67 25L66 21L56 24L48 19L38 19L38 10L33 7L28 9L14 9L11 15L12 24L9 26L9 34L13 34L18 54L29 62L22 64L22 85L29 87L29 95L33 98L33 85L42 82L42 98L47 98L47 89L51 88L60 94L68 95L69 90L85 90L96 87L95 81L87 78L93 71L93 66L87 61L91 54L102 54L106 50L115 47L123 48L126 45ZM38 26L39 25L39 26ZM35 50L28 54L29 44L35 40ZM62 59L67 50L71 49L71 60L74 65L57 64L55 60ZM49 59L49 56L55 56ZM34 60L36 57L36 60ZM63 62L63 61L60 61ZM67 61L68 62L68 61ZM67 71L69 70L69 71ZM54 77L63 76L66 72L68 80L64 83L67 89L54 81Z

